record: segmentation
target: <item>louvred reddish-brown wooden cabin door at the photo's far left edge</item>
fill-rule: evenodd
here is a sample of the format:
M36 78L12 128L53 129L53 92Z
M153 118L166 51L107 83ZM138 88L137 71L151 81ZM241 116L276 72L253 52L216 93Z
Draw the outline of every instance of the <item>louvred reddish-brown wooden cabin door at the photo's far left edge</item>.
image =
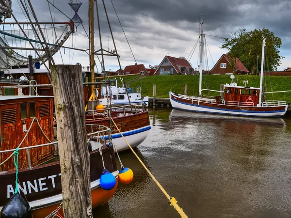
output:
M0 107L1 113L1 151L16 148L17 139L17 119L18 104L4 105ZM12 152L3 153L0 155L0 161L4 161ZM0 170L8 171L14 168L13 158L6 161Z

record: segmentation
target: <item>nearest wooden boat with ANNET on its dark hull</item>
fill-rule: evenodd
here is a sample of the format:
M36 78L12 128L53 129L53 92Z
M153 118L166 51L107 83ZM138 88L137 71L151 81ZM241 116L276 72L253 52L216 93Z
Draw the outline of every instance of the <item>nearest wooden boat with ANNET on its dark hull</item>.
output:
M60 162L54 157L52 96L0 96L0 163L23 141L18 157L18 187L32 207L33 217L46 217L62 202ZM109 131L109 128L106 130ZM49 143L48 143L49 142ZM105 143L105 141L104 141ZM117 188L118 170L112 146L101 147L105 167L116 185L100 187L103 171L99 149L90 152L92 207L109 201ZM0 165L0 209L14 193L16 169L13 158ZM62 211L61 211L62 213Z

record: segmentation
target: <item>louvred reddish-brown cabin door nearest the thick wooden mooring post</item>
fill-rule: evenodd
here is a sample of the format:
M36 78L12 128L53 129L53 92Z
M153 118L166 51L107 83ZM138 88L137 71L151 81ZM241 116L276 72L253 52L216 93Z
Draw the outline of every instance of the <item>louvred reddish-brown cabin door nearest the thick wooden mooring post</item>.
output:
M52 135L52 114L50 108L51 101L39 101L36 102L36 117L39 118L38 122L43 129L45 135L49 138L49 140L53 141ZM41 132L40 128L37 131L37 143L38 144L46 144L49 141L46 139L44 134ZM42 146L37 148L38 149L38 159L41 160L47 156L52 154L52 145L49 146Z

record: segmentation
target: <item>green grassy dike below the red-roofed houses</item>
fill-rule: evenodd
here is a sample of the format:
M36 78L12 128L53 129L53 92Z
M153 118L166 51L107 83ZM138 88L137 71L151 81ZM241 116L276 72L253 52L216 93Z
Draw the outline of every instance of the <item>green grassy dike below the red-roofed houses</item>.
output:
M131 82L139 76L125 77L125 82L129 82L129 87L135 88L141 86L143 95L153 96L153 84L156 84L157 97L169 97L169 91L175 91L179 94L184 94L184 85L188 85L188 95L198 95L199 75L157 75L145 77L141 80ZM247 86L259 87L259 76L253 75L235 75L234 82L239 86L243 86L243 80L248 80ZM220 90L220 84L231 83L229 75L203 75L202 89ZM119 83L120 84L120 83ZM287 76L265 76L263 85L267 86L267 92L287 91L291 90L291 77ZM204 96L219 95L218 92L203 91ZM291 103L291 92L287 93L269 93L267 100L285 100Z

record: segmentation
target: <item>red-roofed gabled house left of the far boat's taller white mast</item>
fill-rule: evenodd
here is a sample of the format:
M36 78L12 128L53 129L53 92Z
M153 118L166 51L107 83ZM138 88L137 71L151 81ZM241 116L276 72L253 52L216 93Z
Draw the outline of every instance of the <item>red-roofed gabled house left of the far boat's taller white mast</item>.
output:
M194 74L194 69L185 59L165 56L154 75Z

